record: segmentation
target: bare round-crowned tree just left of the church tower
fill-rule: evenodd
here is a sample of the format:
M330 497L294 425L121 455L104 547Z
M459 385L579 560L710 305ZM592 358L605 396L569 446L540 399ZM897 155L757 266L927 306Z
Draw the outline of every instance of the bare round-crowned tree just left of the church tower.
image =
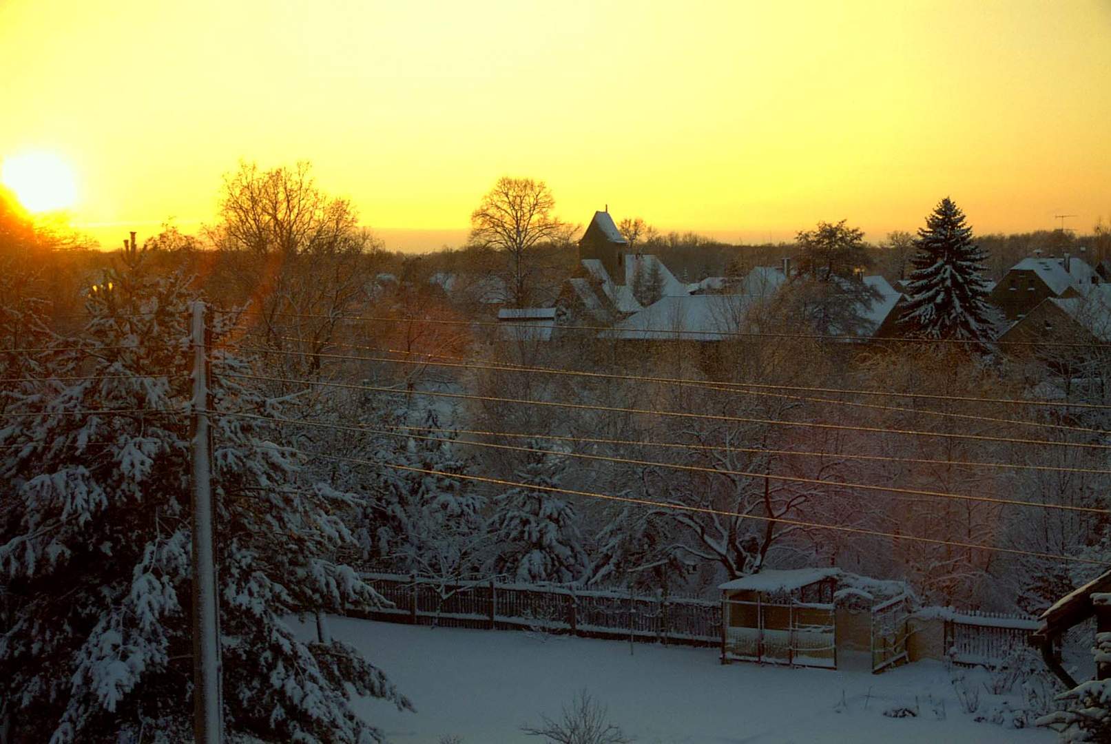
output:
M564 223L552 214L554 207L556 199L543 181L506 175L471 213L470 242L509 257L509 300L513 305L523 306L530 298L530 253L567 232Z

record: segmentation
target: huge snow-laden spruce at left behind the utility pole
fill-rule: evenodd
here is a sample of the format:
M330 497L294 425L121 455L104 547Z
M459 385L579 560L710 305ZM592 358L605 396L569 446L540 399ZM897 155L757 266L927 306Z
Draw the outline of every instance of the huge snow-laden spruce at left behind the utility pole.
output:
M74 384L23 385L0 430L0 677L16 741L181 741L192 710L188 285L133 260L90 293ZM216 323L219 339L229 330ZM69 342L70 344L73 341ZM300 612L381 600L322 556L351 540L348 499L229 411L273 405L213 352L213 495L226 728L264 741L380 741L352 695L409 707L343 643L299 640ZM117 376L122 375L122 376ZM132 410L124 414L79 411ZM141 410L142 412L138 412ZM141 732L141 733L140 733Z

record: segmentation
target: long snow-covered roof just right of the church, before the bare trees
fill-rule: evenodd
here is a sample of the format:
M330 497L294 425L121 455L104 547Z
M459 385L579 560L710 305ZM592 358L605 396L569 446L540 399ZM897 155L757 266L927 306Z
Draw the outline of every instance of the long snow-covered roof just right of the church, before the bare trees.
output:
M624 340L721 341L738 329L754 299L744 294L665 296L630 315L603 338Z

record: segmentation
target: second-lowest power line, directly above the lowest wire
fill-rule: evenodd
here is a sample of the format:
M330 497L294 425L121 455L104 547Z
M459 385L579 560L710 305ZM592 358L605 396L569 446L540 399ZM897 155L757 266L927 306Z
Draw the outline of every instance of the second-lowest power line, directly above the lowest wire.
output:
M242 416L242 418L256 419L256 420L262 420L262 421L274 421L274 422L288 423L288 424L300 424L300 425L308 425L308 426L319 426L319 428L331 429L331 430L336 430L336 431L351 431L351 432L361 432L361 433L382 434L382 435L386 435L386 436L396 436L396 438L401 438L401 439L416 439L416 440L424 440L424 441L433 441L433 442L442 441L441 439L436 438L436 436L428 436L428 435L421 435L421 434L411 434L411 433L406 433L406 432L391 432L389 430L372 429L372 428L369 428L369 426L349 426L349 425L343 425L343 424L332 424L332 423L324 423L324 422L318 422L318 421L309 421L309 420L304 420L304 419L284 419L284 418L281 418L281 416L264 416L264 415L252 414L252 413L232 413L232 414L226 414L226 415ZM925 490L920 490L920 489L900 489L900 487L887 486L887 485L871 485L871 484L867 484L867 483L845 483L843 481L824 481L824 480L821 480L821 479L804 477L804 476L801 476L801 475L781 475L781 474L774 474L774 473L757 473L757 472L749 472L749 471L741 471L741 470L727 470L727 469L707 467L704 465L682 465L682 464L678 464L678 463L657 462L657 461L652 461L652 460L637 460L637 459L632 459L632 458L614 458L614 456L600 455L600 454L590 454L590 453L584 453L584 452L561 452L561 451L558 451L558 450L541 450L539 448L518 446L518 445L512 445L512 444L497 444L497 443L493 443L493 442L474 442L474 441L468 441L468 440L454 440L454 443L457 443L457 444L468 444L468 445L472 445L472 446L482 446L482 448L489 448L489 449L496 449L496 450L507 450L507 451L512 451L512 452L531 452L531 453L537 453L537 454L556 455L556 456L560 456L560 458L578 458L580 460L592 460L592 461L595 461L595 462L612 462L612 463L618 463L618 464L642 465L642 466L647 466L647 467L667 467L667 469L670 469L670 470L682 470L682 471L687 471L687 472L708 473L708 474L711 474L711 475L739 475L739 476L742 476L742 477L754 477L754 479L761 479L762 477L762 479L767 479L767 480L771 480L771 481L782 481L782 482L788 482L788 483L805 483L808 485L838 486L838 487L842 487L842 489L853 489L853 490L858 490L858 491L882 491L882 492L885 492L885 493L903 493L903 494L909 494L909 495L913 495L913 496L932 496L932 497L937 497L937 499L952 499L952 500L957 500L957 501L975 501L975 502L982 502L982 503L1004 504L1004 505L1009 505L1009 506L1034 506L1034 507L1039 507L1039 509L1052 509L1052 510L1069 511L1069 512L1084 512L1084 513L1090 513L1090 514L1103 514L1103 515L1111 514L1111 511L1108 511L1105 509L1095 509L1095 507L1091 507L1091 506L1070 506L1070 505L1064 505L1064 504L1040 504L1040 503L1037 503L1037 502L1021 501L1021 500L1018 500L1018 499L997 499L997 497L993 497L993 496L971 496L971 495L960 494L960 493L949 493L949 492L945 492L945 491L925 491Z

